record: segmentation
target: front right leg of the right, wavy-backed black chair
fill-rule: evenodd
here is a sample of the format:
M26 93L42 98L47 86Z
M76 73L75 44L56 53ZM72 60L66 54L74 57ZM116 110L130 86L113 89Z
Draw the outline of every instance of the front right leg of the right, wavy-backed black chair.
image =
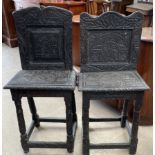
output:
M143 99L143 94L137 95L135 106L134 106L132 130L131 130L131 137L130 137L130 148L129 148L130 154L135 154L137 150L139 113L142 106L142 99Z

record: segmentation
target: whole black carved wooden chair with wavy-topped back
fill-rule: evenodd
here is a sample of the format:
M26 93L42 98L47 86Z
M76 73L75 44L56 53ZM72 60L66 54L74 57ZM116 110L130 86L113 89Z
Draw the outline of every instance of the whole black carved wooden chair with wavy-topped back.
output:
M139 112L144 91L148 89L136 71L143 16L136 12L122 16L107 12L99 17L87 13L80 16L81 73L79 90L83 95L83 155L89 149L129 149L136 153ZM119 118L89 118L91 99L123 99ZM135 100L132 129L127 121L129 100ZM91 144L89 122L120 121L128 129L128 143Z

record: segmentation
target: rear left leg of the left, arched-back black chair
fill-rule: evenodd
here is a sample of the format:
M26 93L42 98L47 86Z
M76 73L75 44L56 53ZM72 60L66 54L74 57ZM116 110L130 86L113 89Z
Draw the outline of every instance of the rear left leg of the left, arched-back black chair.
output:
M28 100L28 104L29 104L30 111L32 114L32 119L34 120L35 126L39 127L40 126L39 115L37 114L37 110L36 110L34 100L32 97L27 97L27 100Z

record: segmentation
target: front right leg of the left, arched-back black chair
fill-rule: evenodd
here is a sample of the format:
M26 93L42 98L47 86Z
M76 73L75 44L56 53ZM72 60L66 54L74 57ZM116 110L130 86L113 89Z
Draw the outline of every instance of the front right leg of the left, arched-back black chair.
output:
M72 94L68 94L64 99L66 104L67 151L72 153L74 146Z

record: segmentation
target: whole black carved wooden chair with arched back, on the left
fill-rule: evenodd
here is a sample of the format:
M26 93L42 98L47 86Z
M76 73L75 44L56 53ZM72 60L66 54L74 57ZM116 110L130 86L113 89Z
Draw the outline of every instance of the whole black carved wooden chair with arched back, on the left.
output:
M29 148L67 148L73 151L77 127L74 98L76 75L72 70L72 13L57 7L27 8L13 13L22 69L4 87L15 102L21 145ZM21 98L27 97L32 124L26 132ZM33 97L64 97L66 119L40 118ZM45 105L46 106L46 105ZM66 123L66 142L29 141L40 122Z

